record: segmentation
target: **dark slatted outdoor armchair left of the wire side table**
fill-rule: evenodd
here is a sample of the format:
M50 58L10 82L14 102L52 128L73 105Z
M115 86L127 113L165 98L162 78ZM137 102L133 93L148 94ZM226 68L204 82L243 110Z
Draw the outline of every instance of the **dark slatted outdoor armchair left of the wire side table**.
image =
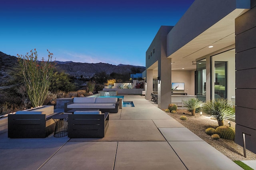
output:
M46 138L54 132L55 122L44 111L17 111L8 115L8 138Z

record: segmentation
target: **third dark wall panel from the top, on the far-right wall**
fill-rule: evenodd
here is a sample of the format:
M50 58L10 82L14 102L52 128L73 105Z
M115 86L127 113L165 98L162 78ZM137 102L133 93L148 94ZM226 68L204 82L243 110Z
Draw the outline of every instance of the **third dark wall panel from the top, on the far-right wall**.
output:
M256 47L236 53L236 70L256 68Z

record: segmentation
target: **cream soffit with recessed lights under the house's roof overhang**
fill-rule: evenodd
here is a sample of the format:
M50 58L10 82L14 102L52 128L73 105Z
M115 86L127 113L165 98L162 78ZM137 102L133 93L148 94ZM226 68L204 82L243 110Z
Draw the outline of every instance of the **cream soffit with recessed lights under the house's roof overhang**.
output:
M196 59L235 43L235 18L248 9L235 9L219 22L202 32L196 38L172 53L173 70L196 70ZM210 45L214 47L209 48ZM184 68L184 69L182 69Z

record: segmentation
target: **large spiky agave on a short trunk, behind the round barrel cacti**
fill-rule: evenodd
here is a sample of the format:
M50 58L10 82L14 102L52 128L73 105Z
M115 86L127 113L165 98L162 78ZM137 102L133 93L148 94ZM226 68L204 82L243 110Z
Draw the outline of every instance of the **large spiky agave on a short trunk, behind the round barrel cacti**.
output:
M224 126L224 119L235 118L235 107L233 103L223 98L207 101L202 107L202 111L216 118L219 126Z

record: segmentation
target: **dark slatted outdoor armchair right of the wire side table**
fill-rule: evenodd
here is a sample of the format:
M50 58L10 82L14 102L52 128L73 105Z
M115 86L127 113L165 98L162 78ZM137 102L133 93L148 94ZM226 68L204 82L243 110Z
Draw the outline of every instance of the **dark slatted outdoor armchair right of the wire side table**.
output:
M68 137L103 138L109 125L109 113L75 111L68 115Z

